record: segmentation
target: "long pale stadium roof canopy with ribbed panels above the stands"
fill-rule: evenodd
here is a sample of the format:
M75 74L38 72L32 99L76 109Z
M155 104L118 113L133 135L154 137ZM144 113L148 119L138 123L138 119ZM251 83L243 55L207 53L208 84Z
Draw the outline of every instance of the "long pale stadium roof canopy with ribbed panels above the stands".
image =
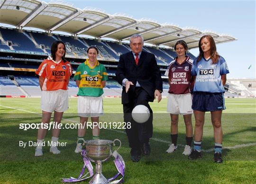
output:
M107 37L119 42L128 40L133 34L140 34L145 43L156 46L174 47L176 41L183 39L189 49L198 47L200 37L206 34L212 35L216 44L237 40L229 35L181 28L168 23L158 24L145 18L136 20L124 14L110 15L97 8L73 8L63 1L1 0L0 23L18 29L35 27L47 33L62 31L73 36Z

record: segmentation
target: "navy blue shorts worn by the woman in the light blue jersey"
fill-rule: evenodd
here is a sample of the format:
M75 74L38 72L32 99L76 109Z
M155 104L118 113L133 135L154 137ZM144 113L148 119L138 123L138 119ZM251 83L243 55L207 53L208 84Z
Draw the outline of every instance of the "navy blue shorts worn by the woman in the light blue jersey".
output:
M224 93L195 91L193 93L192 109L203 112L225 110Z

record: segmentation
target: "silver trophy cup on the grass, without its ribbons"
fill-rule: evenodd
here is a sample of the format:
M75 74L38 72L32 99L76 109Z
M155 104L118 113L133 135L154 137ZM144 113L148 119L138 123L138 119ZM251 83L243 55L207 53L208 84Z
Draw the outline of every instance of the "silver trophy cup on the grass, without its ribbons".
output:
M86 155L91 162L96 163L95 175L93 175L89 184L108 184L110 183L104 175L102 175L102 162L107 161L112 155L112 145L115 146L115 141L119 141L121 147L121 141L115 140L87 140L85 141ZM117 150L119 150L119 148Z

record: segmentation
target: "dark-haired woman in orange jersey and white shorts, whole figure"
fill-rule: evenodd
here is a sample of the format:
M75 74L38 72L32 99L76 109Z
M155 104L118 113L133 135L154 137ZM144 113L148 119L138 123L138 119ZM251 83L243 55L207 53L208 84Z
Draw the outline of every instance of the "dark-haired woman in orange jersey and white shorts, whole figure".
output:
M72 75L71 65L65 60L65 53L65 44L62 41L55 41L51 46L52 55L43 61L36 71L42 90L42 123L37 132L36 157L43 155L42 147L46 145L44 139L47 127L53 129L52 141L48 142L48 145L51 146L50 152L53 154L60 153L60 150L57 149L60 129L56 125L61 123L63 113L68 109L67 89L69 78ZM53 112L54 120L50 123Z

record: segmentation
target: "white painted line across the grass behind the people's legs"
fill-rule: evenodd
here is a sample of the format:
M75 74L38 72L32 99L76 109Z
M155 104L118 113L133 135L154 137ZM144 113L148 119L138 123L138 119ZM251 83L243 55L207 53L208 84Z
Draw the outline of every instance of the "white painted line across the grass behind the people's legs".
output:
M15 110L18 110L18 111L27 112L27 113L39 114L39 113L35 113L35 112L32 112L32 111L27 111L27 110L23 110L23 109L16 109L16 108L9 107L9 106L4 106L4 105L0 105L0 106L5 107L5 108L9 108L9 109L15 109ZM39 114L39 115L41 115L41 114ZM64 120L67 120L67 121L70 121L70 122L73 122L73 123L79 123L77 121L73 121L73 120L69 120L69 119L64 119ZM119 132L119 133L122 133L122 134L126 134L125 131L119 131L119 130L116 130L116 129L107 129L107 130L116 131L116 132ZM170 141L161 140L161 139L157 139L157 138L151 138L150 140L155 140L157 142L162 142L162 143L166 143L166 144L170 144L171 143ZM177 144L177 145L185 147L185 145L183 145L183 144ZM238 144L238 145L235 145L235 146L227 146L227 147L223 147L223 149L239 149L239 148L245 148L245 147L250 147L250 146L256 146L256 142L248 143L248 144ZM214 149L212 148L212 149L206 149L206 150L202 149L201 151L202 152L211 152L213 150Z

